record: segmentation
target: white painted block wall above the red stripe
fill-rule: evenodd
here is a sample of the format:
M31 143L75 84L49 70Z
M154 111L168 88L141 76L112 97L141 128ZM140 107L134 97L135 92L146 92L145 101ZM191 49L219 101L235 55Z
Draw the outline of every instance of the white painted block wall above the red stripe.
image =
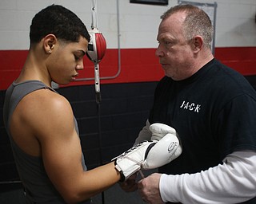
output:
M160 15L178 4L178 0L169 0L168 6L131 4L130 0L96 1L98 29L106 37L108 49L118 48L118 13L121 48L155 48ZM256 46L256 0L193 2L218 4L215 47ZM74 11L90 29L91 0L1 0L0 49L28 49L31 19L52 3Z

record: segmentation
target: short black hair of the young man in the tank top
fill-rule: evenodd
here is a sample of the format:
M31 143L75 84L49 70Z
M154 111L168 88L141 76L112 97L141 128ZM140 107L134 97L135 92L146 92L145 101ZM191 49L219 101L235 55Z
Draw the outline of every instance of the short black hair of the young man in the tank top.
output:
M47 6L35 14L30 26L30 45L50 33L62 41L77 42L80 36L90 41L90 34L81 19L60 5Z

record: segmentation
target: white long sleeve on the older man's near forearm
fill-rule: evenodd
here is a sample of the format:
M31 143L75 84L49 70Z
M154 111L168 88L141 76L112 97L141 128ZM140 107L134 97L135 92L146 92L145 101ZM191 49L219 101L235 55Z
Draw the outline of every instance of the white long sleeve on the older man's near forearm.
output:
M197 174L162 175L164 202L238 203L256 197L256 152L237 151L222 165Z

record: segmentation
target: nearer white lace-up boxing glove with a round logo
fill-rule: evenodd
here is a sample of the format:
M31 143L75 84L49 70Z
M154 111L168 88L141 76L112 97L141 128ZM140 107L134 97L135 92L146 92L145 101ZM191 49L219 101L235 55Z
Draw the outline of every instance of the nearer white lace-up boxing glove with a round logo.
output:
M112 159L123 182L140 169L154 169L170 163L182 153L176 135L167 134L159 141L144 141Z

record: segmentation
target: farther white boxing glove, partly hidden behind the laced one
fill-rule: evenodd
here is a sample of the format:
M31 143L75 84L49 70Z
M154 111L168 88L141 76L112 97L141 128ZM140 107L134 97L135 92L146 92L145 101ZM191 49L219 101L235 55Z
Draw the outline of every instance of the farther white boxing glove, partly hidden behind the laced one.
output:
M152 133L152 137L151 137L152 141L160 140L162 139L163 136L165 136L168 133L178 135L174 128L171 128L166 124L159 124L159 123L151 124L150 131Z

